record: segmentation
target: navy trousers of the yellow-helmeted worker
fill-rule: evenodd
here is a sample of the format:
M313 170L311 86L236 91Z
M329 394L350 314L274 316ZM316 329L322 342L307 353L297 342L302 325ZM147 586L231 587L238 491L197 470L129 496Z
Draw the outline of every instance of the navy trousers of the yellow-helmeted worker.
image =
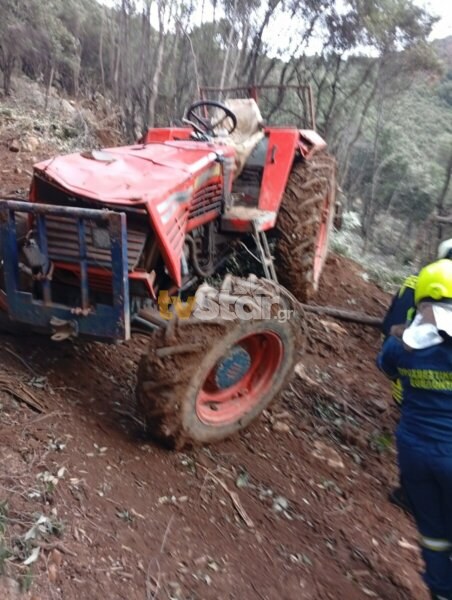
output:
M398 436L400 474L413 508L430 591L452 600L452 444Z

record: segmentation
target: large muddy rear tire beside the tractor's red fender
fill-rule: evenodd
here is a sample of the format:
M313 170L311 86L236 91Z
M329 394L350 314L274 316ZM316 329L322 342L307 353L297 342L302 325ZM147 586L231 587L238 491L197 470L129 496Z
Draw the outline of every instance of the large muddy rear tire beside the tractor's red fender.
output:
M317 291L335 212L335 162L326 153L295 162L276 222L276 271L298 298Z

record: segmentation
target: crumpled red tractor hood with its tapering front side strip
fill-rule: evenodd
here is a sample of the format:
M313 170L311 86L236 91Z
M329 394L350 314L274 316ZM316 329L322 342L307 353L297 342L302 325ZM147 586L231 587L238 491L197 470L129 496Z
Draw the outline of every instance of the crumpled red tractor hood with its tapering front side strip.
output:
M145 207L170 275L181 284L181 253L193 189L220 172L226 146L166 141L57 156L35 165L35 175L74 196L111 208ZM46 202L45 197L39 202ZM176 233L175 233L176 232Z

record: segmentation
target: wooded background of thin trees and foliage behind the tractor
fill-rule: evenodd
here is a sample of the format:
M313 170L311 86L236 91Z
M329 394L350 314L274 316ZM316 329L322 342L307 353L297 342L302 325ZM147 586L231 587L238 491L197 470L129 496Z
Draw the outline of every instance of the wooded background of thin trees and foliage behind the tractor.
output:
M22 71L100 101L132 140L180 119L198 86L309 82L346 208L358 207L369 243L383 215L406 221L411 243L438 202L452 41L427 42L435 19L412 0L0 0L0 15L5 94ZM281 23L290 32L276 41ZM313 38L323 43L315 55ZM267 91L260 105L270 123L309 126L299 90Z

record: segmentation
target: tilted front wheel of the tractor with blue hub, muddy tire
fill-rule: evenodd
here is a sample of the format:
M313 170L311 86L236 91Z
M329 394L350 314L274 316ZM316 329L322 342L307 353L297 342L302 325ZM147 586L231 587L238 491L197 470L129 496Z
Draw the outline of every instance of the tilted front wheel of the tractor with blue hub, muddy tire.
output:
M298 317L277 316L192 317L156 332L138 370L137 402L147 432L180 449L222 440L254 421L296 362Z

